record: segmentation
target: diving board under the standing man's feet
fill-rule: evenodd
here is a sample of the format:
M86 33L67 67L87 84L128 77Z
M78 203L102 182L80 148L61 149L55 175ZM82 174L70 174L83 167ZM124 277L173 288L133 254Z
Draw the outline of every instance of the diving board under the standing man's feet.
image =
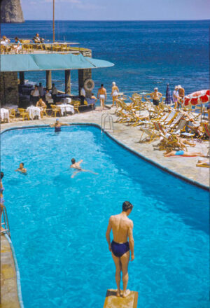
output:
M116 293L117 290L107 290L104 308L137 308L138 292L131 291L125 298L117 297Z

